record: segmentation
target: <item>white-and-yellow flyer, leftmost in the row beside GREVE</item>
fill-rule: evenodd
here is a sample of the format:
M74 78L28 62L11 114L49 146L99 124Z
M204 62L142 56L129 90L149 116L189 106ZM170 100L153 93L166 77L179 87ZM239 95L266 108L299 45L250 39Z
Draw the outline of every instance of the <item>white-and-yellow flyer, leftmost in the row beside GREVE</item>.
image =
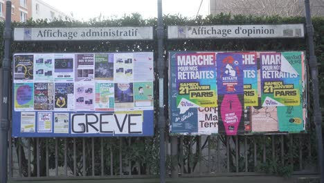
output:
M21 112L20 132L35 132L35 112Z

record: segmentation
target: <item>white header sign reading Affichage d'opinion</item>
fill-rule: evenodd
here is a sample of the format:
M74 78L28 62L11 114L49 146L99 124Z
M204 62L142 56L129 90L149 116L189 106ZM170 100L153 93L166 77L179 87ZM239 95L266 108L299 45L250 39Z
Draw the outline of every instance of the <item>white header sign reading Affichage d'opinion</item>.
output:
M304 37L303 24L168 26L169 39Z

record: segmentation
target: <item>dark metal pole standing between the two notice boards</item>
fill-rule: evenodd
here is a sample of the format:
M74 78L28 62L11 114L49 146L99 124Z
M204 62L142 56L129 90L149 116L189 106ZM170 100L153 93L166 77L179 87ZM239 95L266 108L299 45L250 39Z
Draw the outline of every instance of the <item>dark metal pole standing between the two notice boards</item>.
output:
M165 182L165 114L164 114L164 60L163 60L163 17L162 17L162 0L157 1L158 22L157 22L157 41L158 41L158 71L159 71L159 134L160 134L160 182Z

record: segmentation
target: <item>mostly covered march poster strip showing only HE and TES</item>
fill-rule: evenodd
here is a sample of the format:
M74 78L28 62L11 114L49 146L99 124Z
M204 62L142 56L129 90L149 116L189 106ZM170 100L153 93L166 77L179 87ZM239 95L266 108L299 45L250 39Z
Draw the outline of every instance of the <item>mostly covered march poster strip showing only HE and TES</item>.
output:
M257 53L243 53L244 107L258 106L258 65Z

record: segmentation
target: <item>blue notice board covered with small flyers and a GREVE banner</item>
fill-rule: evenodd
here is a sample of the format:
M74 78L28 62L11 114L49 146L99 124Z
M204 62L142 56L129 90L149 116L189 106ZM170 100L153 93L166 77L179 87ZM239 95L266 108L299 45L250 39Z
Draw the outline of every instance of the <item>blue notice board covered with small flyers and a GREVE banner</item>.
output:
M12 137L153 135L153 53L13 58Z

